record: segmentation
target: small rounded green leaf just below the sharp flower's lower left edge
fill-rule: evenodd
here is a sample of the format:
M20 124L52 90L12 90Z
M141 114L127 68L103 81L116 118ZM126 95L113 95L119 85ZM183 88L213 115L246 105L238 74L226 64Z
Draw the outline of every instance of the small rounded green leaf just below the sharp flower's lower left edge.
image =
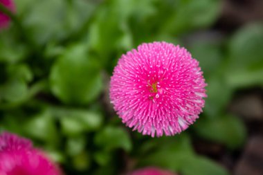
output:
M131 151L131 138L122 127L105 127L96 134L95 144L102 147L105 151L122 148Z

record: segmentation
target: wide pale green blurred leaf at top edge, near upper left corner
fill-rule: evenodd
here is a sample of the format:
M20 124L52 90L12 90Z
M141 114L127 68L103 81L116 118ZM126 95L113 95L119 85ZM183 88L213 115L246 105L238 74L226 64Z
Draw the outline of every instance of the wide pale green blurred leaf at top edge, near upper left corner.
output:
M93 3L84 0L70 4L63 0L26 3L18 3L19 8L26 10L22 22L37 44L66 39L82 26L94 9Z

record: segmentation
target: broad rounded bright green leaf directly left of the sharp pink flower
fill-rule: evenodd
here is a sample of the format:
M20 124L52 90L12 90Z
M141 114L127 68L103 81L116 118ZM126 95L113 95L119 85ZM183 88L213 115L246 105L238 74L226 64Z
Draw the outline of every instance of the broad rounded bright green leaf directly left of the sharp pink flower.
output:
M100 68L85 45L66 49L53 64L50 81L53 94L66 104L90 103L102 90Z

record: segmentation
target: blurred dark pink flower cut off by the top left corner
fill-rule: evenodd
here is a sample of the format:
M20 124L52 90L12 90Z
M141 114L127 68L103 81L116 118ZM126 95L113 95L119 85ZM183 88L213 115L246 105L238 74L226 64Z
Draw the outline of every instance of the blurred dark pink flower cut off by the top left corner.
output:
M13 3L12 0L0 0L0 3L6 8L8 8L8 10L12 12L15 11L15 4ZM9 24L9 21L10 21L10 17L8 17L8 15L0 11L0 29L6 28Z

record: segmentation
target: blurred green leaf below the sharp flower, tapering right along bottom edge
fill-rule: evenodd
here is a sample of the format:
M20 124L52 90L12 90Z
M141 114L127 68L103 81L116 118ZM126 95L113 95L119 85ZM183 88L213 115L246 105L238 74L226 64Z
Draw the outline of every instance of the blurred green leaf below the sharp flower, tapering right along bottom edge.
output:
M157 166L180 172L184 175L226 175L226 169L220 167L212 160L197 156L192 150L190 138L187 135L173 138L160 138L161 140L149 140L143 144L156 147L149 149L146 154L140 154L140 166ZM149 148L149 147L148 147Z

